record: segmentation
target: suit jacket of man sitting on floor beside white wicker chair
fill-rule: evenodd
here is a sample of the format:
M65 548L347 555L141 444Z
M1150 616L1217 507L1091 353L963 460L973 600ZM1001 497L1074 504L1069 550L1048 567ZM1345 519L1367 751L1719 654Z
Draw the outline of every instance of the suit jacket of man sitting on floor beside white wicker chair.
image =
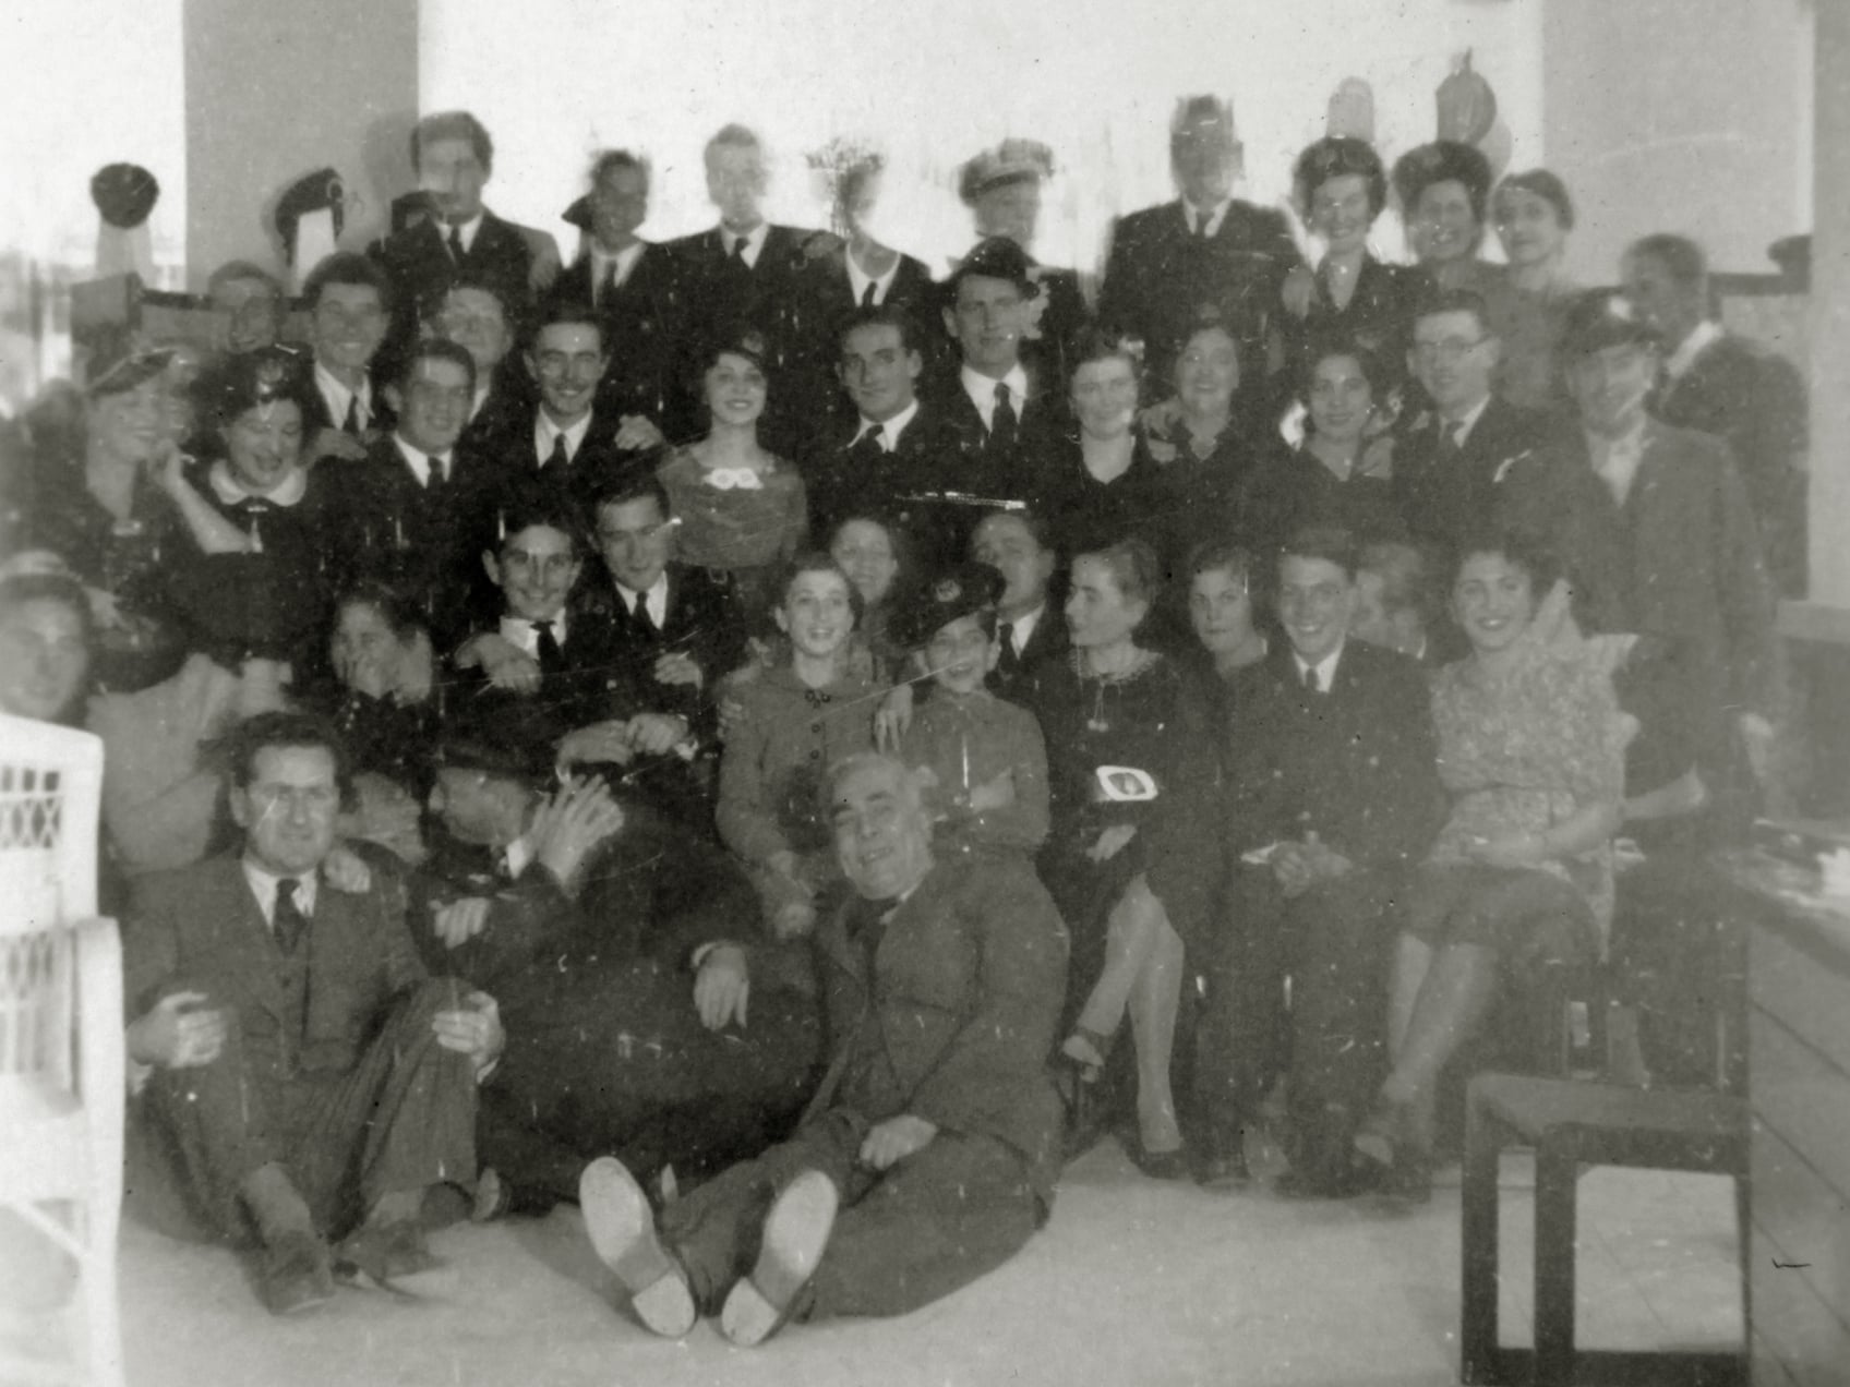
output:
M394 878L374 873L364 893L320 882L309 930L283 954L239 853L137 882L122 956L130 1019L166 993L204 991L237 1012L246 1062L278 1078L350 1069L392 1002L426 976Z

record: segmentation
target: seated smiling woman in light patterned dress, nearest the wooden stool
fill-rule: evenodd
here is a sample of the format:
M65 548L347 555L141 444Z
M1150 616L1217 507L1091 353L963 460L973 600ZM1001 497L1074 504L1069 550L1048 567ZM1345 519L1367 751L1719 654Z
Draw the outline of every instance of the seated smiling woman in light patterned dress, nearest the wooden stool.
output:
M1537 623L1552 579L1515 534L1460 549L1452 614L1471 655L1432 692L1452 806L1408 899L1389 988L1393 1071L1356 1134L1356 1150L1413 1198L1430 1191L1439 1073L1491 1010L1506 964L1560 951L1563 934L1565 952L1597 958L1611 921L1624 723L1606 662Z

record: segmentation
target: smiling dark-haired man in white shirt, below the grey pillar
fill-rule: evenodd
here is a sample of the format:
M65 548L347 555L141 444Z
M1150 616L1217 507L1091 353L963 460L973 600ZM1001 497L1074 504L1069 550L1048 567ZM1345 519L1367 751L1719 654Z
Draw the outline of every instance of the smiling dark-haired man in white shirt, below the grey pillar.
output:
M364 255L335 252L302 283L314 353L314 392L302 420L303 457L357 462L392 431L392 407L374 388L392 283Z

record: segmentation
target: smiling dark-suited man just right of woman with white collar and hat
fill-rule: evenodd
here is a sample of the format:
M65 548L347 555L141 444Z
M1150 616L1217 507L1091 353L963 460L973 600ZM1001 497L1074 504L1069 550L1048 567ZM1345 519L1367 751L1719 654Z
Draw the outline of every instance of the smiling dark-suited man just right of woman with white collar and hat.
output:
M457 448L475 398L475 361L455 342L418 342L388 387L398 427L359 460L324 459L309 479L335 588L376 579L422 601L431 640L470 627L475 557L494 525L494 468Z

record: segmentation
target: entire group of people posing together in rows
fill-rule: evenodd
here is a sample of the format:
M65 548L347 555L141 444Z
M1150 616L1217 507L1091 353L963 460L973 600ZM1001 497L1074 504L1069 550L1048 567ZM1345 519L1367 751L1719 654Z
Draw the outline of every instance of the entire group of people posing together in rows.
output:
M433 115L305 340L233 264L220 353L102 342L13 423L0 710L104 738L135 1126L272 1309L575 1198L660 1333L901 1313L1104 1132L1426 1198L1613 838L1752 806L1802 401L1700 250L1580 290L1554 174L1330 137L1310 264L1225 104L1171 152L1088 305L1025 141L942 283L877 161L770 226L740 126L714 229L640 240L610 152L555 274Z

